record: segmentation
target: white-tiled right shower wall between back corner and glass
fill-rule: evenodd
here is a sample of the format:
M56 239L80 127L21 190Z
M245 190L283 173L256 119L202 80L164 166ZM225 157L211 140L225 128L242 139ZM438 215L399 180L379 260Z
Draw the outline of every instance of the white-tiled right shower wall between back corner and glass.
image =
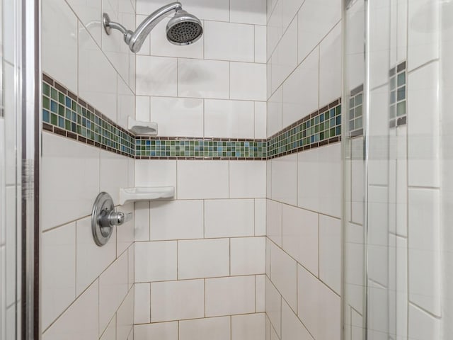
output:
M341 1L269 0L267 26L270 137L341 96ZM332 142L267 161L266 339L340 339L341 155Z

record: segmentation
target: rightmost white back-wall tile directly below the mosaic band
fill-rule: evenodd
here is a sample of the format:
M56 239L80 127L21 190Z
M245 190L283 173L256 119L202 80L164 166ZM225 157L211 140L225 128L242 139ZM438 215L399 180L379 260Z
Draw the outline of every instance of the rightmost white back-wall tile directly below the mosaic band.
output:
M230 198L265 198L265 161L229 162Z

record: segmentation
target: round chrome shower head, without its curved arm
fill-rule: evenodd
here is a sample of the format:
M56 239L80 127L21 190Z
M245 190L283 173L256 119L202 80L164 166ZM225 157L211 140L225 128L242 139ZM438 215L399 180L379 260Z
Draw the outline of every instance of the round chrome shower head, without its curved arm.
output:
M203 27L196 16L180 9L168 21L167 39L174 45L190 45L201 38Z

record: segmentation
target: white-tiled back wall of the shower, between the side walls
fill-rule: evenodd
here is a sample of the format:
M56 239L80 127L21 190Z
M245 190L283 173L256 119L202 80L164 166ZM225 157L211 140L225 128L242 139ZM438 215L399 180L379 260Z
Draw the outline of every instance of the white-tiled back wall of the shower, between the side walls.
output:
M137 23L164 4L137 1ZM159 136L205 138L205 147L210 138L265 140L265 0L183 6L204 35L177 47L166 21L151 32L137 55L137 120L157 122ZM162 142L161 151L140 142L137 157L174 158L180 144L161 153ZM214 157L243 157L221 147ZM136 186L176 188L175 200L135 204L135 340L265 339L265 181L265 160L135 161Z

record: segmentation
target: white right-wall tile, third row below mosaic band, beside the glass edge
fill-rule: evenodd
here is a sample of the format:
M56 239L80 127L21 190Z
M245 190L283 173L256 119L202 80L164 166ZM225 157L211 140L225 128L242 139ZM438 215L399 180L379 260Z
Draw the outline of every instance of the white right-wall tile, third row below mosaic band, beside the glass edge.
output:
M340 297L302 266L297 268L297 315L314 339L340 339Z

